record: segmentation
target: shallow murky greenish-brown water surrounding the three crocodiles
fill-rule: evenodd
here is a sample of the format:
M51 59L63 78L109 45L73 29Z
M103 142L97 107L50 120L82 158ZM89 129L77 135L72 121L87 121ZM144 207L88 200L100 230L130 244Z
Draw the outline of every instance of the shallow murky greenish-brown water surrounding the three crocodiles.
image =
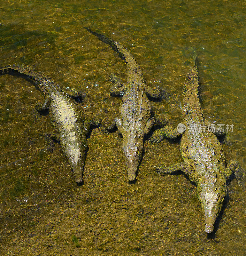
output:
M121 101L110 97L108 77L125 79L126 66L83 26L94 28L133 52L150 86L171 94L151 104L156 117L176 125L194 47L204 115L234 124L236 142L224 149L245 169L245 13L245 1L1 1L0 65L29 65L62 88L86 91L85 117L101 117L104 127ZM244 186L231 181L215 232L206 235L194 185L183 175L153 172L158 162L181 161L179 141L146 140L137 181L129 184L122 138L94 129L78 187L59 144L44 150L40 135L53 127L49 116L33 122L40 98L24 79L0 77L1 255L245 253Z

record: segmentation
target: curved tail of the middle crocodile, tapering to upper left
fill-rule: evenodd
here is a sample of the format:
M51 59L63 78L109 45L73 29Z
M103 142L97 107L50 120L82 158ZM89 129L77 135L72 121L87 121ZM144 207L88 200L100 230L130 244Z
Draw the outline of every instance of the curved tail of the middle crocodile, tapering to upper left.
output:
M101 40L102 42L109 44L112 49L119 53L120 57L126 61L127 63L127 71L130 75L137 75L137 76L141 76L142 77L142 71L136 61L136 59L134 58L134 56L132 55L132 53L122 44L115 42L114 40L112 40L111 38L104 36L102 34L96 33L94 31L92 31L91 29L85 27L85 29L90 32L92 35L95 35L99 38L99 40Z

